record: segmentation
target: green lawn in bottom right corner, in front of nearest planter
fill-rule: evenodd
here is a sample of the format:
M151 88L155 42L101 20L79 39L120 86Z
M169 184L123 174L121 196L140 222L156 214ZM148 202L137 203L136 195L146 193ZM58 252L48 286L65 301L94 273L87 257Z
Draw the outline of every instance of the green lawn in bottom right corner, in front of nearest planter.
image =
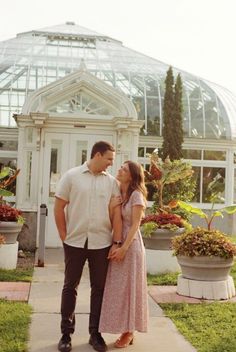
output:
M198 352L236 351L236 304L160 304Z

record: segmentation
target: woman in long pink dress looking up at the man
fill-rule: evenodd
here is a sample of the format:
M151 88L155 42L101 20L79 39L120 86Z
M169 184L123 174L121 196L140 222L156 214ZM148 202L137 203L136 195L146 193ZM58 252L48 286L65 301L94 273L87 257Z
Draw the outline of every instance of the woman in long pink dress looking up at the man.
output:
M133 344L134 331L147 331L145 249L139 230L146 205L142 167L127 161L118 171L121 199L111 202L111 214L121 204L122 243L110 255L99 331L119 334L115 347ZM118 197L119 198L119 197Z

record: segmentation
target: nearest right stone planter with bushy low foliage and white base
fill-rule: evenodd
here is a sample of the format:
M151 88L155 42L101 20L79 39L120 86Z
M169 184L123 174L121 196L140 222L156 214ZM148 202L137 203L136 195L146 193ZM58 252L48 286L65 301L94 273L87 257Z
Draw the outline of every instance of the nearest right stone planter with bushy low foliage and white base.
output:
M197 227L176 236L172 246L182 271L178 294L210 300L235 296L234 281L229 274L236 246L229 237L218 230Z

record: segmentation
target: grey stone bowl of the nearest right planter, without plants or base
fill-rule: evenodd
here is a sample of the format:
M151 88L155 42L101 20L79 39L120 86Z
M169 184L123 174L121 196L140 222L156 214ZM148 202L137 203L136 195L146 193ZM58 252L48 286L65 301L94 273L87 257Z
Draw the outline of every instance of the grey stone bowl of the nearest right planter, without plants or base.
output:
M186 279L200 281L227 280L230 269L233 266L233 258L216 256L177 256L181 267L182 276Z

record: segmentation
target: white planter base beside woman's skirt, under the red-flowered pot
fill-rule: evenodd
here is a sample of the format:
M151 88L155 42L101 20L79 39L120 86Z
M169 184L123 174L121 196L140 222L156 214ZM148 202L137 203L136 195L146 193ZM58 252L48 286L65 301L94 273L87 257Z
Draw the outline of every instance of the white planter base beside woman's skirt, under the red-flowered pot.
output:
M152 275L180 272L172 250L146 249L147 272Z

